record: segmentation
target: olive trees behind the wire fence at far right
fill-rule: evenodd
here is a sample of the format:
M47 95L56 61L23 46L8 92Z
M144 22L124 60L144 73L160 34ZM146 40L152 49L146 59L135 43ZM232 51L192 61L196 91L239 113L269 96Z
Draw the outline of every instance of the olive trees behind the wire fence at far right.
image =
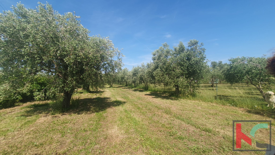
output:
M212 61L207 79L210 80L213 89L216 79L230 84L246 83L247 86L251 84L265 100L264 89L270 90L274 85L274 78L266 70L267 61L268 59L264 57L236 57L229 59L228 64Z

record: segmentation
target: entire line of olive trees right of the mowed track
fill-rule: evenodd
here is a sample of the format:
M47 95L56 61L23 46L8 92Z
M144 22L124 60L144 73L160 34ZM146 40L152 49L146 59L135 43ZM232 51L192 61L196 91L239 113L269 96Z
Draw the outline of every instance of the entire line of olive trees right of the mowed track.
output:
M174 88L174 93L181 96L194 95L201 84L210 84L214 90L216 84L246 83L254 86L264 99L264 89L269 90L274 84L266 70L267 58L236 57L229 59L229 63L212 61L209 66L203 43L197 40L190 40L187 47L179 42L173 49L164 43L152 52L152 61L116 73L114 83L133 87L142 84L144 90L150 85L164 86Z

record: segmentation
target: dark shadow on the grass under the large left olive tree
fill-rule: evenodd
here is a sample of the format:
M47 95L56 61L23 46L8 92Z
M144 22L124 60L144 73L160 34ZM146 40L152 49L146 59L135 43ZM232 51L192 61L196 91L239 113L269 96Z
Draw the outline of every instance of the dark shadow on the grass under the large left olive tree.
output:
M83 113L98 113L105 111L107 108L120 106L126 102L120 100L111 100L109 97L96 97L96 98L81 98L71 100L70 108L61 108L61 102L51 102L43 104L31 104L23 108L28 108L22 116L30 117L39 114L52 115L57 113L63 114L83 114Z

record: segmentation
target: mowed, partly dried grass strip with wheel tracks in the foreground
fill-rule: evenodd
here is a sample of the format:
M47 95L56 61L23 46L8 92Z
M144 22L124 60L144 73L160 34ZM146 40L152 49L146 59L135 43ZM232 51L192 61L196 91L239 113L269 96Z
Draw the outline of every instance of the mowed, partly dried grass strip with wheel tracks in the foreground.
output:
M65 112L50 102L0 110L0 154L264 154L232 151L232 120L272 120L275 142L274 119L246 109L114 86L75 94Z

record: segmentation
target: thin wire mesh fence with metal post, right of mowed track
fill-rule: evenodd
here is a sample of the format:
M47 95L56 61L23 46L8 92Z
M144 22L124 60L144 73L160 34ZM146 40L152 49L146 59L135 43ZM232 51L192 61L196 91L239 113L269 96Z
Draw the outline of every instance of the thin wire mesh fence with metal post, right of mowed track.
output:
M214 84L210 82L201 84L197 98L250 109L265 109L267 106L260 91L255 86L247 83L231 85L215 80Z

